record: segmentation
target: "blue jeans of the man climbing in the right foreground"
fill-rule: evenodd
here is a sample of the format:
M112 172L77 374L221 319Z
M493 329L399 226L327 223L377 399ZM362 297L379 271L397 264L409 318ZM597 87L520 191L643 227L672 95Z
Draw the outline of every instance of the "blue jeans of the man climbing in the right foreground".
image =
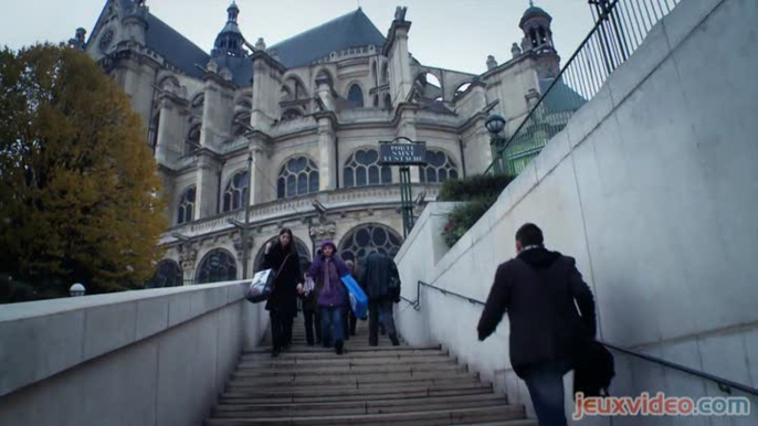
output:
M568 362L550 362L529 370L524 376L540 426L568 426L564 405L564 375Z

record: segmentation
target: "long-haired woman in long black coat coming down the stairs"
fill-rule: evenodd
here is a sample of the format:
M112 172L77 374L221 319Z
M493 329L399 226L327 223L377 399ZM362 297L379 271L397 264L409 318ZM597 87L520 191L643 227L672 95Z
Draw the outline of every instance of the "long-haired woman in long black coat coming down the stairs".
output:
M263 269L273 269L276 278L266 302L271 316L272 356L289 347L292 323L297 316L297 294L303 291L303 273L292 231L283 228L275 244L266 244Z

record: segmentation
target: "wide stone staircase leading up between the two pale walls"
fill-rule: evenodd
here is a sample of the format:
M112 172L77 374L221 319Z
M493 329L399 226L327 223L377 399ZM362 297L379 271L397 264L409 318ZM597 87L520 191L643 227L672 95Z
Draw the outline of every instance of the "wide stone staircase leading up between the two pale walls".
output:
M439 345L392 347L380 337L371 348L368 322L358 321L345 348L337 355L307 347L301 316L289 350L242 355L206 426L537 426Z

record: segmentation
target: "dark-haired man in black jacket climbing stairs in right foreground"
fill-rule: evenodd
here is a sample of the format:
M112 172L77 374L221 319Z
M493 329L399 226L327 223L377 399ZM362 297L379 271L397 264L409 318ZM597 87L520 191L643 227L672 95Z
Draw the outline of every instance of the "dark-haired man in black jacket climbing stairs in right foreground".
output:
M492 334L508 312L510 364L529 388L539 424L566 426L564 375L577 344L594 338L594 300L575 259L547 251L537 225L518 230L516 252L497 268L478 338Z

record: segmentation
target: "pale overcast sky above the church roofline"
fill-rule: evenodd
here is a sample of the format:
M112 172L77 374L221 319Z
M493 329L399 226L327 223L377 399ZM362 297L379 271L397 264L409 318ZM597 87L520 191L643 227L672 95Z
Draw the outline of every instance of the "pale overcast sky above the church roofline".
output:
M0 0L0 45L19 49L35 42L59 42L77 26L92 31L105 0ZM482 73L487 55L498 63L520 42L518 21L528 0L236 0L240 26L255 44L267 45L362 7L387 34L396 6L408 7L412 22L409 49L421 63ZM147 0L150 12L210 51L227 19L229 0ZM535 0L552 15L556 47L565 61L592 26L587 0Z

